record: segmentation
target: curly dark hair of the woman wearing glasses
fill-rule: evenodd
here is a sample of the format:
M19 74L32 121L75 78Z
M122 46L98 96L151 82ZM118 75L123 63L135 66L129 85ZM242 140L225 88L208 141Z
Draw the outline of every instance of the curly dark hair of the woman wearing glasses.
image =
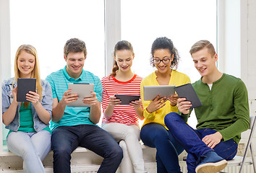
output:
M154 58L155 50L158 50L158 49L168 49L171 55L174 55L174 60L171 61L171 68L176 69L178 67L180 57L179 57L178 50L174 47L174 43L172 43L171 39L169 39L168 37L158 37L153 42L151 47L151 58L150 58L151 66L155 67L153 58Z

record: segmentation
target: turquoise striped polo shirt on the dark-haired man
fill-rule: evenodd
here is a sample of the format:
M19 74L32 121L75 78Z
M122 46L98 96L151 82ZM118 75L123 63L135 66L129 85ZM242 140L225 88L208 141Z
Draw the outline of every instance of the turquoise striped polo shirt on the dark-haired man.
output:
M82 74L78 79L74 79L67 74L66 66L59 71L56 71L46 77L46 80L51 84L53 97L60 101L64 92L68 89L69 83L89 83L94 84L94 92L99 102L102 97L102 85L98 76L90 73L89 71L82 70ZM61 125L94 125L89 119L90 108L89 107L68 107L64 110L64 115L58 123L50 122L51 130Z

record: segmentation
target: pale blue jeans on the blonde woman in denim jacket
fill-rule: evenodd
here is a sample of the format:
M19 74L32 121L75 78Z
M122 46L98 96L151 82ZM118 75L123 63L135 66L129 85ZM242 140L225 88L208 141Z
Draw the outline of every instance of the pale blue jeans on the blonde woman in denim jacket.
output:
M51 150L51 133L46 130L36 132L12 132L7 137L9 151L23 159L23 172L45 172L42 161Z

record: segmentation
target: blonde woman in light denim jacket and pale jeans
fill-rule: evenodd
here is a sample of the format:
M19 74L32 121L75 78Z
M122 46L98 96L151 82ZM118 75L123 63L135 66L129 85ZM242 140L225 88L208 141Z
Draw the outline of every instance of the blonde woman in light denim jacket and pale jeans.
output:
M38 56L32 45L21 45L15 56L14 78L2 89L3 123L9 129L7 147L23 159L23 172L45 172L42 160L51 150L51 85L40 79ZM36 92L26 94L29 102L17 102L17 79L35 78Z

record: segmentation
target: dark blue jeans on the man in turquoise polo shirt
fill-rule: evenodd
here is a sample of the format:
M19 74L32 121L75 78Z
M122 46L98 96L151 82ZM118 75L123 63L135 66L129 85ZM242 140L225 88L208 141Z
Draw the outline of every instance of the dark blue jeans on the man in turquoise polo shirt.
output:
M54 173L70 171L70 159L77 146L88 148L102 156L98 172L116 172L123 158L123 151L114 138L96 125L59 126L51 136L54 151Z

